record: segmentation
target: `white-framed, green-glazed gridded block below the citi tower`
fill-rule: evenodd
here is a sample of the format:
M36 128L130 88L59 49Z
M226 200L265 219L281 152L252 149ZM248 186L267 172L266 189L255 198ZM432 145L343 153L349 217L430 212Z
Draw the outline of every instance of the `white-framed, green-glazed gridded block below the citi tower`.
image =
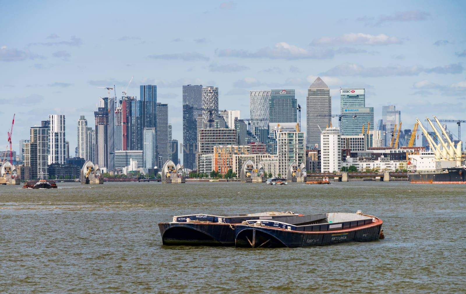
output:
M278 172L286 176L288 168L295 163L305 164L306 142L304 132L277 132Z

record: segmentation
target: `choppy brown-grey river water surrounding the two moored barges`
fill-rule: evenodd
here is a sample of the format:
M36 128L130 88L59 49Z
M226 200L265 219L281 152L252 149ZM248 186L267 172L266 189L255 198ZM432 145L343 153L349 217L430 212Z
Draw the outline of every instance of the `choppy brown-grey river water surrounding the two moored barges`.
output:
M465 293L466 186L349 182L0 186L0 293ZM167 247L187 213L356 212L385 239L295 249Z

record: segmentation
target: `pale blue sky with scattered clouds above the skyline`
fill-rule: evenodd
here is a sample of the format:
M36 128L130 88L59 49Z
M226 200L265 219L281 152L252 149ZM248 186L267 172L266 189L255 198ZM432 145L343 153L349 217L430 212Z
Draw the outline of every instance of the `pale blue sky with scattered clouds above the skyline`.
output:
M239 109L241 118L249 117L249 90L295 89L303 130L317 76L329 85L333 114L340 88L364 88L375 123L383 105L401 110L407 129L416 116L466 119L464 1L0 0L0 7L0 150L14 113L14 150L31 126L64 114L74 156L77 120L84 115L94 126L99 96L108 95L96 87L115 84L120 97L132 76L130 95L157 85L180 143L185 84L218 87L219 109ZM456 124L448 128L456 137Z

